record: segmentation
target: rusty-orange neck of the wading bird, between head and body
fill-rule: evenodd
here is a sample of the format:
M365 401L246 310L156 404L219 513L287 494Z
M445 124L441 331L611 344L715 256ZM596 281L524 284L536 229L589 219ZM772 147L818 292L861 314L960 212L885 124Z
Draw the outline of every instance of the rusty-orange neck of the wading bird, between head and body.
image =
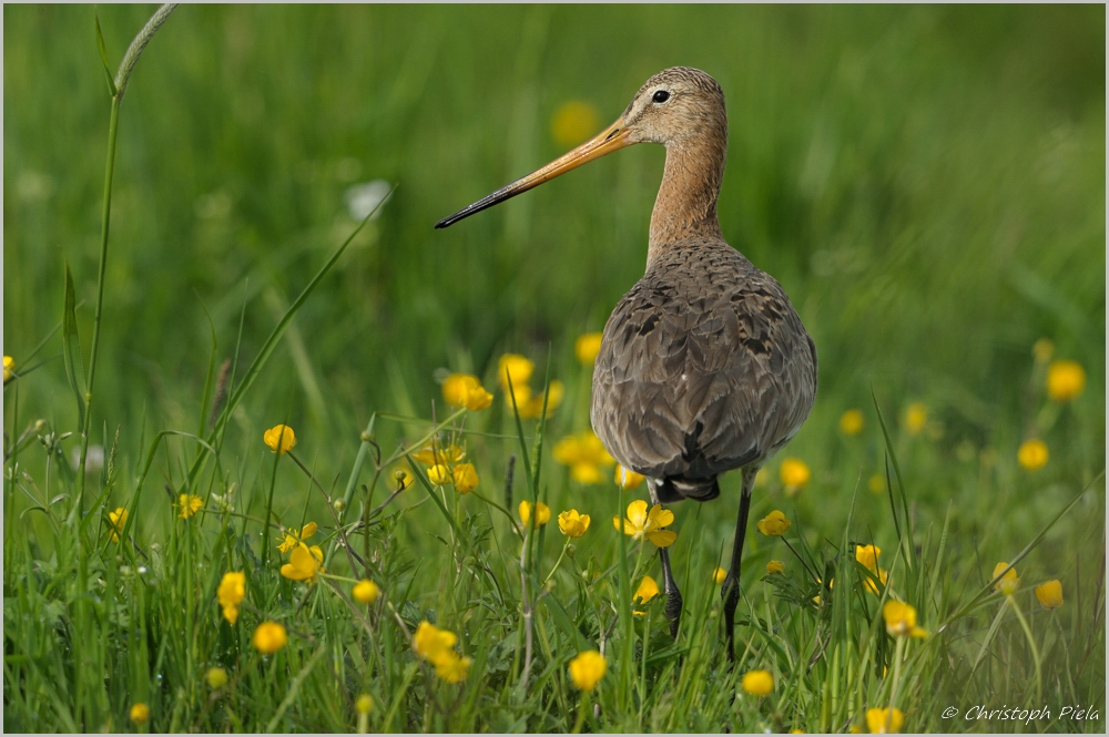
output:
M682 244L723 239L716 198L724 178L726 145L725 136L704 136L667 146L662 186L651 213L648 268Z

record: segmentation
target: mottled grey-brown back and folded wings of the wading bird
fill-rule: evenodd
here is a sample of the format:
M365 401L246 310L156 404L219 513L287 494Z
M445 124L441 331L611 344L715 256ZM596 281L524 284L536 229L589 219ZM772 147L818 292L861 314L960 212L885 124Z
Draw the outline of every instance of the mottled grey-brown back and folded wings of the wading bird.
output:
M788 442L815 395L816 347L777 282L722 240L688 243L609 317L591 419L621 465L703 501Z

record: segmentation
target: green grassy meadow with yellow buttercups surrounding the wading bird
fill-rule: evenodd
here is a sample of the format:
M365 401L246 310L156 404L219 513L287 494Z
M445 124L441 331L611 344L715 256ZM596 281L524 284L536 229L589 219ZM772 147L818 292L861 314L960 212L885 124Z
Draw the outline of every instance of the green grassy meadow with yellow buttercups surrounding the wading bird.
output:
M1105 731L1103 7L182 7L118 73L155 10L3 8L6 730ZM739 474L672 639L589 432L664 152L433 229L674 64L820 354L734 666Z

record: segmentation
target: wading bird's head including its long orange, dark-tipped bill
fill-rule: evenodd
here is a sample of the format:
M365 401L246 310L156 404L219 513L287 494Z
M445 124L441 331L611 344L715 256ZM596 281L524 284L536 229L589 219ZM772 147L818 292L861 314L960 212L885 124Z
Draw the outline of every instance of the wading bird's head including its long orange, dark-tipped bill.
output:
M635 143L681 146L692 140L728 136L724 93L716 81L698 69L671 66L649 79L612 125L542 168L482 197L436 223L437 228L527 192L582 164Z

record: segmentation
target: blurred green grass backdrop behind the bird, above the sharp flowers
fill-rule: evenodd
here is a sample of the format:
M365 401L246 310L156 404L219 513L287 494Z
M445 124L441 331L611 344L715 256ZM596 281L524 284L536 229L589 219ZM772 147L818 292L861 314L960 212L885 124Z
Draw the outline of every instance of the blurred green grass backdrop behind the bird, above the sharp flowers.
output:
M153 9L100 8L113 69ZM92 7L3 13L18 365L60 321L63 258L88 351L109 95ZM892 420L924 401L936 462L916 492L942 514L983 449L1015 467L1038 407L1030 349L1048 337L1089 383L1052 440L1066 462L1044 472L1064 484L1014 511L1038 524L1105 465L1105 43L1102 6L182 7L123 102L93 427L122 426L132 462L143 428L195 428L206 314L218 364L243 311L245 365L354 227L347 193L378 178L395 196L297 316L228 442L261 457L261 430L289 418L330 477L374 410L427 417L440 367L491 383L501 352L541 367L550 347L553 376L577 381L573 339L642 275L663 150L433 225L562 153L566 102L599 126L685 64L726 94L724 235L818 347L816 409L787 452L817 489L849 492L861 470L865 487L872 388ZM21 417L75 427L57 336L41 357ZM584 427L579 386L556 436ZM867 411L862 450L836 444L848 407ZM996 500L980 503L986 524Z

